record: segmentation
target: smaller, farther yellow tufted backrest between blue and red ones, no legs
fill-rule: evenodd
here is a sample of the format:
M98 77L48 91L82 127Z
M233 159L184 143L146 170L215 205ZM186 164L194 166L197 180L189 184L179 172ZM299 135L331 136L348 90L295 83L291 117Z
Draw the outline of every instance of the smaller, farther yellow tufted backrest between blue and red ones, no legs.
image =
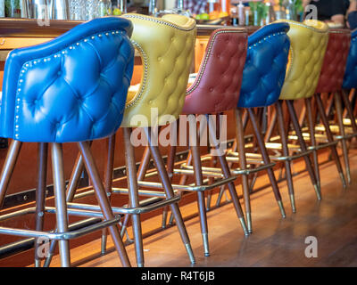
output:
M290 25L289 61L280 100L311 97L319 83L322 62L328 45L328 25L319 20L285 21Z

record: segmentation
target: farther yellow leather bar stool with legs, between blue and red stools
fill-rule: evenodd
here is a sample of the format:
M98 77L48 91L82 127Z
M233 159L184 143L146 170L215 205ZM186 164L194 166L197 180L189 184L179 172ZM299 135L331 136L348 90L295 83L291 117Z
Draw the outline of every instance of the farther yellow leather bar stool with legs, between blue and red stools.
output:
M295 212L295 193L291 173L292 160L303 157L317 198L321 199L320 185L311 164L311 150L308 150L303 139L294 102L299 99L309 98L315 92L328 45L328 25L319 20L304 20L303 23L294 20L279 21L285 21L290 25L290 30L287 33L290 39L290 50L285 82L279 100L275 104L279 135L270 137L270 140L266 142L266 146L268 149L280 153L280 155L272 157L273 160L282 161L285 164L290 202L292 210ZM283 102L286 102L287 106L287 119L283 113ZM286 130L288 130L290 122L294 127L299 142L298 146L288 143ZM277 141L281 141L281 143ZM294 151L294 154L289 152L290 148L290 151Z

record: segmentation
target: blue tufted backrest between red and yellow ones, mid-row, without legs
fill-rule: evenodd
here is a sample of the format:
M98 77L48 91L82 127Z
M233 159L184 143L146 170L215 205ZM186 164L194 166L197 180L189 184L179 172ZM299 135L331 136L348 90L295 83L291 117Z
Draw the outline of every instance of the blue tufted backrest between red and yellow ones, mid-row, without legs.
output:
M238 107L269 106L278 100L286 76L288 30L287 23L273 23L248 38Z

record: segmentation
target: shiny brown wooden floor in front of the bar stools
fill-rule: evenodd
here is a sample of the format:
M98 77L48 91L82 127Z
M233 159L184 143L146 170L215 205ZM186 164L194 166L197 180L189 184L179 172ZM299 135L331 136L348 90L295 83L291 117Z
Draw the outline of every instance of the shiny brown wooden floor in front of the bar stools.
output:
M279 215L270 188L252 195L253 234L245 237L231 203L208 212L211 256L203 255L198 217L187 220L187 231L195 252L190 265L176 227L145 238L145 266L357 266L357 151L351 153L353 183L347 189L328 162L320 167L322 200L316 199L306 172L297 175L295 198L297 213L291 212L286 183L279 183L286 218ZM265 176L264 176L265 177ZM266 179L262 177L262 179ZM213 198L215 202L215 198ZM182 208L184 216L196 211L195 203ZM160 217L146 221L144 232L161 224ZM129 232L129 235L131 233ZM318 256L305 256L305 239L316 237ZM120 266L109 244L109 253L100 255L100 240L71 250L73 266ZM136 265L133 245L127 247ZM53 266L60 265L58 256Z

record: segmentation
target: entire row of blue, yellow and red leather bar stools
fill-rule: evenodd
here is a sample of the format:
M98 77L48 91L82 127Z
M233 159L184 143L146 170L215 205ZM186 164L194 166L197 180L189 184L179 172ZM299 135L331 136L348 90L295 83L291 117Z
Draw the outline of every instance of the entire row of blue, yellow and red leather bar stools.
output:
M197 195L203 254L210 256L206 212L211 207L213 189L220 187L219 205L228 188L238 224L249 235L253 232L250 194L258 173L267 171L284 218L286 209L274 167L278 163L284 166L295 213L292 163L304 159L311 189L321 199L318 151L323 148L331 151L343 187L351 183L348 142L357 135L357 125L351 103L354 94L349 97L348 92L357 85L357 31L328 28L318 20L278 20L249 36L245 28L220 28L212 32L198 72L190 75L195 35L195 20L186 16L166 14L154 18L128 13L90 20L50 42L9 54L4 67L0 136L12 139L12 143L0 178L0 205L23 142L38 143L37 196L36 208L3 215L0 220L34 214L36 229L0 227L0 233L35 238L36 266L41 266L37 254L41 238L51 240L45 266L50 265L57 241L62 266L70 266L69 240L102 230L105 252L106 229L112 235L121 265L130 266L122 240L130 218L136 263L144 266L141 215L158 208L163 208L162 226L168 223L170 208L169 223L175 221L187 256L195 263L179 208L183 192L194 191ZM130 86L135 49L140 53L143 73L140 84ZM328 98L327 106L322 96ZM304 106L298 118L295 102L301 99ZM220 132L227 128L222 118L229 110L234 110L237 132L233 147L227 150ZM245 142L249 120L253 143ZM188 139L179 127L187 123ZM127 188L113 187L112 180L115 134L119 129L123 134ZM173 139L165 165L156 142L168 133ZM203 155L200 146L207 136L211 152ZM104 141L108 143L104 181L90 148L94 140L103 138L108 138ZM138 170L136 139L145 141ZM189 152L178 167L175 156L181 140L188 140ZM78 142L79 146L67 185L64 142ZM336 150L339 142L345 169ZM46 207L49 144L54 208ZM148 172L151 159L154 172ZM93 185L93 191L87 194L95 194L97 205L74 202L79 197L76 191L84 169ZM153 175L159 177L158 182L145 181ZM250 175L253 183L249 182ZM194 183L189 183L190 176ZM234 183L237 176L242 178L244 208ZM173 183L174 177L179 183ZM128 205L114 205L113 194L127 195ZM139 199L141 196L150 198ZM56 215L51 232L43 229L46 212ZM69 215L99 217L101 222L70 231Z

